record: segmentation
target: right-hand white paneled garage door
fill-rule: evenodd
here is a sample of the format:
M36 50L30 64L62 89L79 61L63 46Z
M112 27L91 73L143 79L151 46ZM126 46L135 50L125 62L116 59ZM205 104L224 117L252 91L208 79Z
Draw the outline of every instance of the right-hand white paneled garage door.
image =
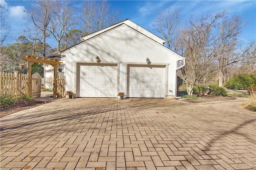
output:
M164 98L165 68L130 67L129 97Z

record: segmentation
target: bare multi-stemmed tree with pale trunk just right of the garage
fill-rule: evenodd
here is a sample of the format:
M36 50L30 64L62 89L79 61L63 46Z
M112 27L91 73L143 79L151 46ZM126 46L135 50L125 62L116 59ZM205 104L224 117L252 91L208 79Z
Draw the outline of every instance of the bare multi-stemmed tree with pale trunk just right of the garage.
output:
M188 95L192 95L196 83L202 83L204 77L214 71L216 60L214 42L217 20L223 18L225 12L215 16L207 15L199 20L190 18L189 24L182 31L182 46L185 49L186 65L182 68Z

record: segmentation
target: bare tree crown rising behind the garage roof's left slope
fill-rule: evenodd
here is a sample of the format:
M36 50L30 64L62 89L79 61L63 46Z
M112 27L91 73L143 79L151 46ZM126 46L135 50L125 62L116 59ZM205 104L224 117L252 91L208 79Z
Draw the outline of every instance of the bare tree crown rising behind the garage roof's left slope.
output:
M83 2L82 11L80 19L83 36L115 24L120 13L119 10L110 12L110 4L107 0L86 0Z

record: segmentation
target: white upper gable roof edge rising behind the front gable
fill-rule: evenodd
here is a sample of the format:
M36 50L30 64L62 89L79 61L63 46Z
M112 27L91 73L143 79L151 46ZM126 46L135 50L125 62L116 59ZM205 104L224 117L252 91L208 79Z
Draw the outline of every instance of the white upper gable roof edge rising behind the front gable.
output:
M106 28L103 28L102 30L99 30L97 32L93 32L91 34L88 34L86 36L83 36L81 37L81 40L85 41L85 40L88 40L94 36L97 36L99 34L102 34L104 32L107 32L109 30L112 30L122 24L126 24L127 26L129 26L130 28L133 28L134 30L140 32L141 34L144 34L145 36L147 36L148 38L160 43L161 45L163 45L166 41L163 40L162 38L156 36L155 34L153 34L152 32L149 32L148 30L142 28L141 26L139 26L138 24L135 24L134 22L132 22L131 20L129 19L126 19L126 20L123 20L121 22L118 22L117 24L114 24L112 26L109 26L109 27L106 27Z

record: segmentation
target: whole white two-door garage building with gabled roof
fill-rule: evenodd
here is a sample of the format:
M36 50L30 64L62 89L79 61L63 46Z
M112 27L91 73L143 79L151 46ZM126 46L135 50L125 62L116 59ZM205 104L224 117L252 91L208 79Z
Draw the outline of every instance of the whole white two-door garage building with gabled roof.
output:
M158 36L124 20L81 39L60 52L66 60L66 91L77 97L117 97L119 92L127 97L175 96L176 70L185 60ZM177 68L177 63L183 65Z

